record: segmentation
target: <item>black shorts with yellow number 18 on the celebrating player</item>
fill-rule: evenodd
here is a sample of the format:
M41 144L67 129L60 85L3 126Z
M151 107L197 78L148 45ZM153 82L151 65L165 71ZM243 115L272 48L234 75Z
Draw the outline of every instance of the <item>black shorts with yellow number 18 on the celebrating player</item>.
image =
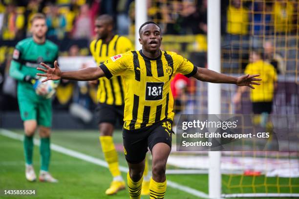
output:
M123 129L124 152L128 163L137 164L145 159L157 143L166 143L171 147L172 121L163 120L141 129Z

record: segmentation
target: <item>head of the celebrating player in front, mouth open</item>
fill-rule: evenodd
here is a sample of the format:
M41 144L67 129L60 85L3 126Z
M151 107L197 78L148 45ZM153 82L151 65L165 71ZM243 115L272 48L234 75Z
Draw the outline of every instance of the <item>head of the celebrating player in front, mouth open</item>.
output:
M157 25L149 23L142 27L139 42L146 51L155 52L160 50L161 40L161 31Z

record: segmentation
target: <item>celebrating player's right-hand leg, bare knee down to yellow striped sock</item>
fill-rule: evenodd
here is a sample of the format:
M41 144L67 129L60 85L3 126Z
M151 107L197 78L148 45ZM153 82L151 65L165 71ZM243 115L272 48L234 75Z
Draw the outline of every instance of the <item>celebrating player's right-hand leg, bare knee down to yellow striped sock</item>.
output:
M149 198L164 199L166 192L166 162L171 148L166 143L157 143L151 150L152 178L149 183Z

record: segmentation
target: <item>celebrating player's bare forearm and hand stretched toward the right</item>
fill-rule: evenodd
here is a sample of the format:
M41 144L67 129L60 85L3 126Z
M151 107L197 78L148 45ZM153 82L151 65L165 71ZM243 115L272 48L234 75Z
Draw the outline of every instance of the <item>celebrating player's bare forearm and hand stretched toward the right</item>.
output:
M260 81L261 79L256 78L259 75L243 75L238 78L224 75L221 73L217 73L213 70L209 70L207 68L197 68L197 72L193 76L197 80L201 81L208 81L212 83L234 83L238 86L248 86L252 89L255 89L255 87L252 86L252 84L259 85L260 83L256 81Z

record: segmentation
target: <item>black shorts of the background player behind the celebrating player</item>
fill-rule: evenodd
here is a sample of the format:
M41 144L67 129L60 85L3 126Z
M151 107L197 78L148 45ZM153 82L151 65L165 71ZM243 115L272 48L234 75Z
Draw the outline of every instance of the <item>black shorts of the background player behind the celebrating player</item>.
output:
M124 124L124 105L108 105L105 103L98 103L96 108L96 118L98 124L103 122L108 122L113 125L116 124L118 120L119 123L123 126Z

